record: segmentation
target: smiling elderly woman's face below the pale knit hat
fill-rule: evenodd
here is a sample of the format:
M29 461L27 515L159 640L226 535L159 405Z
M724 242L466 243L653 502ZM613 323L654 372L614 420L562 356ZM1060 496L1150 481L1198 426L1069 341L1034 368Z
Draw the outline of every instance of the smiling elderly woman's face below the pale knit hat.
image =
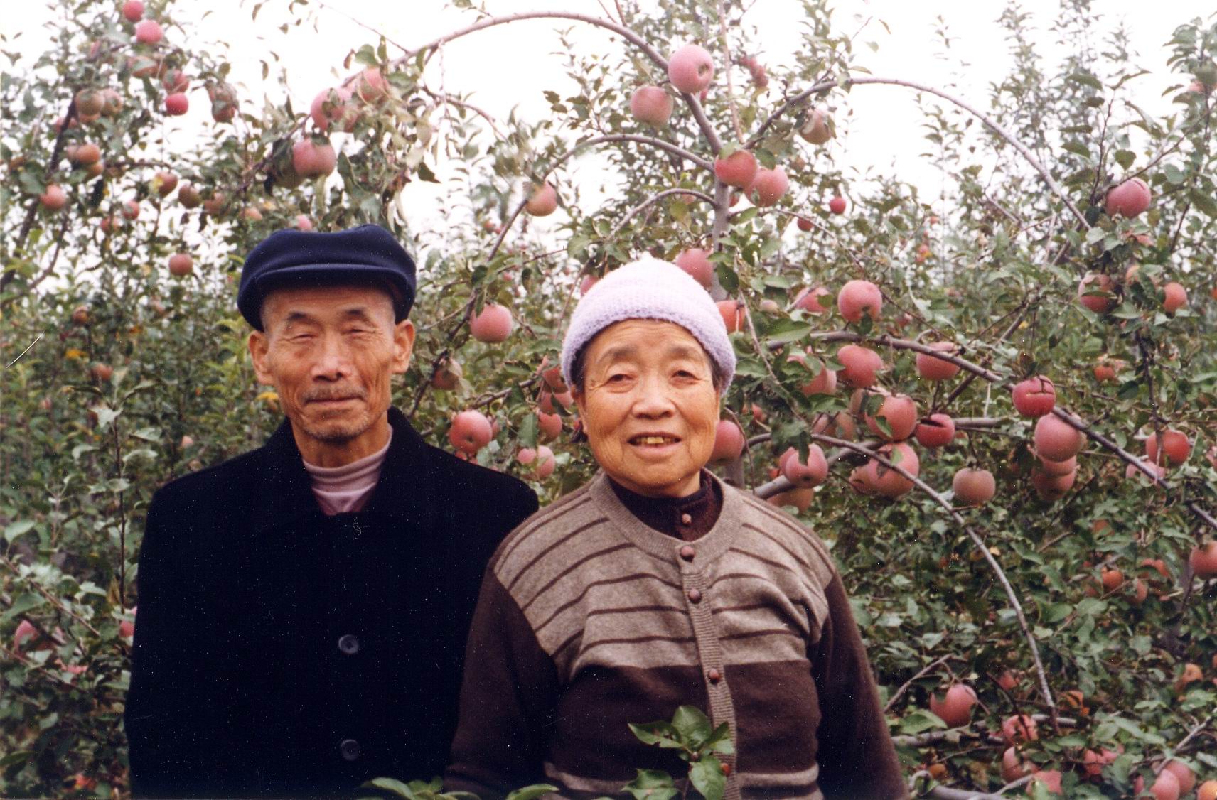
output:
M624 320L587 345L574 401L600 467L651 497L697 491L714 449L718 391L710 356L674 322Z

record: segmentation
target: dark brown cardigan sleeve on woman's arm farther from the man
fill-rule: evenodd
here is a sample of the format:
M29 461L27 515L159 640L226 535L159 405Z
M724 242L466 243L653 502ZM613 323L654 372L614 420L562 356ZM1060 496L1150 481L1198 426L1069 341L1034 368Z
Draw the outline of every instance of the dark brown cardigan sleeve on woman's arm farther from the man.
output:
M879 689L849 610L841 576L825 587L829 616L812 648L820 698L820 789L834 798L907 798L896 748L879 706Z

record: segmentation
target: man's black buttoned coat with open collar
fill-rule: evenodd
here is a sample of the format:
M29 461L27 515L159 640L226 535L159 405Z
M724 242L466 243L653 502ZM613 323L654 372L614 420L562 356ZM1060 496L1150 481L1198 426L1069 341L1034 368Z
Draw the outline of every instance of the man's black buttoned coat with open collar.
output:
M359 513L321 513L287 422L157 491L125 712L135 794L342 796L443 772L482 571L537 497L396 409L389 423Z

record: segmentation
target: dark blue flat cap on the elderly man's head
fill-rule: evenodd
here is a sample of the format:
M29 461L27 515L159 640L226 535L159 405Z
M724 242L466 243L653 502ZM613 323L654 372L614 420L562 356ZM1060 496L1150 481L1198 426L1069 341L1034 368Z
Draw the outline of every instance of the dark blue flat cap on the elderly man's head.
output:
M414 305L414 260L380 225L347 231L275 231L258 243L241 267L236 306L262 329L262 302L284 286L380 284L389 289L400 322Z

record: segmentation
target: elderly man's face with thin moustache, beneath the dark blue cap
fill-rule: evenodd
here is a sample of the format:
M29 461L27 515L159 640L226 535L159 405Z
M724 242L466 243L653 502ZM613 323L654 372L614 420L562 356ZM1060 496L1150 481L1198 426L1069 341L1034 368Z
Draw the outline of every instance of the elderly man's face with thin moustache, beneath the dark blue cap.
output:
M414 348L414 325L394 325L385 291L275 289L262 327L248 342L258 381L275 387L307 461L333 466L325 453L342 453L344 463L383 445L391 376L405 372Z

